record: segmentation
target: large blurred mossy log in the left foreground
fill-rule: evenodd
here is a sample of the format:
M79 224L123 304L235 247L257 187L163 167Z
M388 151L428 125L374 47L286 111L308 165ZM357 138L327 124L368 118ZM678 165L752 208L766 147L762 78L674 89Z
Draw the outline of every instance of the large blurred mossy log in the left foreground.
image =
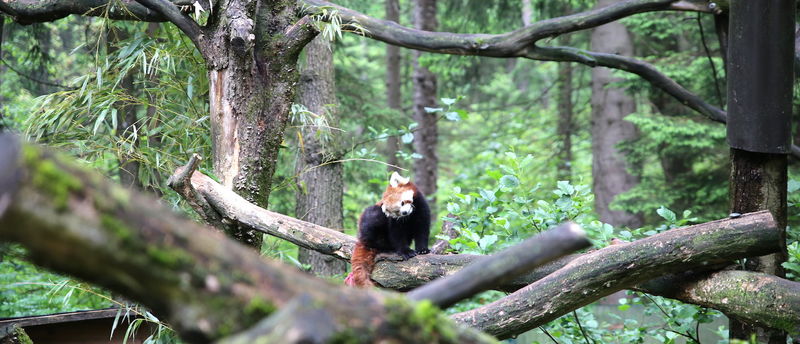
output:
M496 342L430 303L335 286L264 260L149 195L40 147L8 136L0 143L9 162L0 165L0 240L22 244L38 265L141 302L188 342L219 340L272 314L279 317L265 322L280 322L297 304L316 310L303 320L321 342Z

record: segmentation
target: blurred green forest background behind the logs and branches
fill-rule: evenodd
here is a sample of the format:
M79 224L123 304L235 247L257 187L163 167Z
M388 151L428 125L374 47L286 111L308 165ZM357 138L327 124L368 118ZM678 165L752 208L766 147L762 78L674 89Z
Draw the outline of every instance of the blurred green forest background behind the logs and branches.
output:
M387 8L394 8L399 23L407 26L422 20L415 19L411 1L341 4L375 17L391 15ZM586 1L440 1L434 29L506 32L594 6ZM198 9L194 15L202 20L207 14ZM616 26L611 35L619 40L593 41L591 31L581 31L554 43L637 56L724 108L726 79L715 24L712 16L698 13L646 13L607 25ZM307 219L311 211L304 202L328 196L312 194L317 189L304 177L335 167L342 179L325 183L341 191L341 209L315 215L330 214L325 225L354 234L358 214L379 199L387 171L399 169L426 184L435 200L434 230L452 222L459 236L449 243L460 253L497 252L568 219L587 229L596 246L605 246L612 238L634 240L728 215L724 126L635 75L613 72L607 85L598 84L603 76L596 69L577 64L418 54L339 29L326 27L312 44L317 50L307 48L301 57L301 88L282 141L270 210ZM22 26L4 18L0 37L3 127L61 147L107 176L157 193L195 216L165 185L192 153L212 156L206 70L177 28L79 16ZM325 51L329 64L315 59ZM319 77L314 73L326 68L334 83L314 84ZM432 92L418 91L417 83L430 86L430 80ZM597 98L610 91L618 92L615 98ZM598 114L611 103L619 110L616 117ZM593 137L600 118L614 130ZM431 120L435 131L427 130ZM431 139L435 143L426 147L435 147L433 165L430 152L418 146ZM319 159L306 159L309 152ZM423 175L426 169L435 172ZM210 160L201 171L213 175ZM797 189L792 162L784 267L793 280L800 276ZM282 240L265 238L261 250L302 269L343 277L340 264L315 268L325 263ZM28 264L20 247L4 244L1 253L0 281L6 287L0 290L0 317L115 302L103 290ZM450 311L501 295L487 292ZM590 306L540 331L559 342L699 341L700 325L721 317L644 295L622 299L619 309L641 304L669 320L653 325L620 319L615 325L622 331L610 332L612 324L596 320ZM726 329L712 331L726 338ZM165 332L153 340L176 339Z

